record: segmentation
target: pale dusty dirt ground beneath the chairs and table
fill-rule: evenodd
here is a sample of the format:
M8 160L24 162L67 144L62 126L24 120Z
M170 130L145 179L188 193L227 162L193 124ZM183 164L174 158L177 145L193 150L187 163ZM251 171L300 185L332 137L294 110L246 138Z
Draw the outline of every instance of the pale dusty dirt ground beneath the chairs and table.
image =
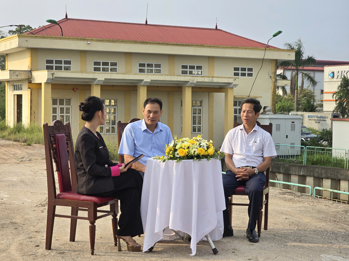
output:
M0 140L0 260L349 260L349 204L271 188L268 230L260 242L247 241L247 208L235 207L234 236L189 244L161 242L151 253L118 252L110 217L96 221L95 255L89 251L88 222L77 222L76 242L69 242L69 220L56 218L52 249L45 250L47 183L43 145ZM57 186L58 187L58 186ZM244 198L239 201L246 201ZM56 213L69 213L57 207ZM135 238L143 244L142 237Z

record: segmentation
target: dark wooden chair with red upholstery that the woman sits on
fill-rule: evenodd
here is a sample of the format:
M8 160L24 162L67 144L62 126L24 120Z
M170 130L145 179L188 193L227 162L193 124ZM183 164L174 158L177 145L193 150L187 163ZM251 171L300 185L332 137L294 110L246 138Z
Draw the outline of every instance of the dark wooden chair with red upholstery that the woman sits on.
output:
M66 217L70 219L70 242L75 241L76 222L78 219L88 220L90 223L90 248L91 255L94 254L95 221L102 217L111 215L114 246L117 246L117 213L119 211L118 200L112 197L91 197L76 193L77 174L74 156L74 148L71 136L70 123L59 120L53 122L52 126L44 124L45 156L47 172L47 225L46 225L46 249L51 249L53 224L55 217ZM60 193L56 193L53 161L56 166ZM98 210L103 206L110 206L110 210ZM56 206L71 208L71 215L56 214ZM87 217L78 216L79 211L87 211ZM103 214L97 215L98 212Z

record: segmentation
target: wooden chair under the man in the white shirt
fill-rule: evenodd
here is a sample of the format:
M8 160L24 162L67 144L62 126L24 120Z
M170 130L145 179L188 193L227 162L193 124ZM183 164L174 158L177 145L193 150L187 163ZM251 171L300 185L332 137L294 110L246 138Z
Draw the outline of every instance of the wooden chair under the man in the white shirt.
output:
M238 123L237 121L234 121L234 128L241 125L241 123ZM270 133L272 135L273 132L273 124L269 123L269 125L261 125L257 121L257 125L260 126L262 129L264 129L266 132ZM263 201L259 210L259 217L257 221L257 230L258 230L258 237L261 236L261 230L262 230L262 217L263 217L263 206L264 207L264 230L268 230L268 204L269 204L269 168L265 170L265 177L266 177L266 183L264 185L262 195L263 195ZM228 203L228 211L230 214L230 224L232 221L232 206L248 206L248 204L245 203L233 203L232 198L234 195L247 195L245 192L244 186L239 186L234 193L232 193L231 198Z

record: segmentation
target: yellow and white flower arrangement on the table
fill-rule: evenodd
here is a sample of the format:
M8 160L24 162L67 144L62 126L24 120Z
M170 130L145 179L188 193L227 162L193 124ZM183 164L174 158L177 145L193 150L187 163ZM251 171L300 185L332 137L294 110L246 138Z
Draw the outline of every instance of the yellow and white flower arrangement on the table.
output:
M156 156L154 159L165 162L166 160L175 160L179 162L181 160L210 160L212 158L220 160L224 157L223 154L216 150L212 145L212 141L209 142L201 138L201 135L197 137L173 139L173 141L166 145L166 156Z

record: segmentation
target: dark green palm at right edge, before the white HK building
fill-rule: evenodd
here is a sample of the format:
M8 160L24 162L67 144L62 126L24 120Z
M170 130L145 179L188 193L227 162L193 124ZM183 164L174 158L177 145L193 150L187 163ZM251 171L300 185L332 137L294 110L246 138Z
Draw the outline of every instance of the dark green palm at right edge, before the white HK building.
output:
M349 79L343 76L337 91L332 95L336 99L334 113L340 113L343 118L349 117Z

